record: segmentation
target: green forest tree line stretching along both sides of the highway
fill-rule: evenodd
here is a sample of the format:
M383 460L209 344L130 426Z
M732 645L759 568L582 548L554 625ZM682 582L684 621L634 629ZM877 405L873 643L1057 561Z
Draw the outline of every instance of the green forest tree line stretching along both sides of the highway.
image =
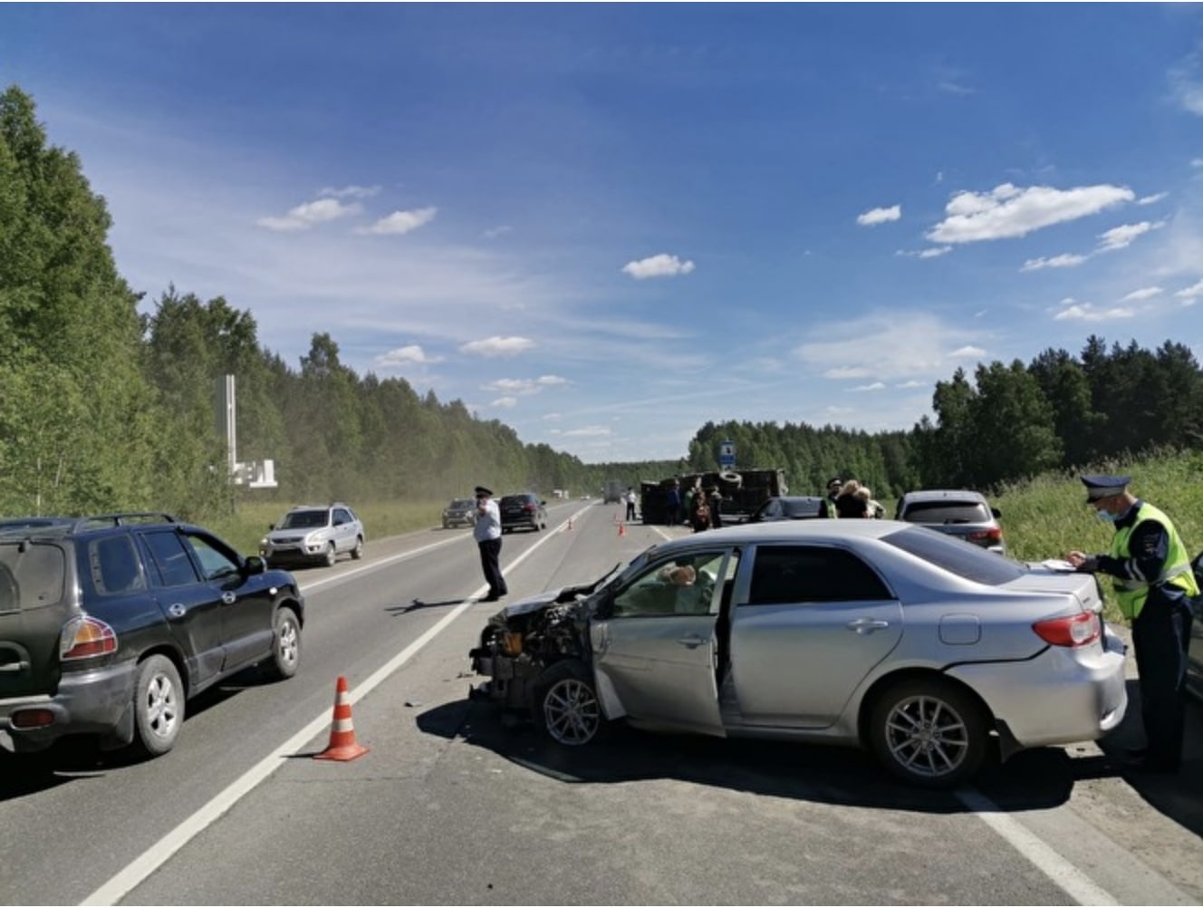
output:
M796 493L832 475L876 495L908 488L998 488L1050 469L1150 449L1198 449L1203 374L1191 351L1047 350L958 370L936 384L932 417L866 433L805 423L706 422L676 461L586 464L526 444L460 400L403 378L358 375L328 333L298 368L265 346L249 311L167 287L147 314L118 273L111 219L78 156L47 142L32 99L0 95L0 514L166 510L191 520L232 511L215 408L237 384L241 461L277 462L280 502L437 500L478 482L502 491L598 494L713 470L721 441L739 463L783 468Z

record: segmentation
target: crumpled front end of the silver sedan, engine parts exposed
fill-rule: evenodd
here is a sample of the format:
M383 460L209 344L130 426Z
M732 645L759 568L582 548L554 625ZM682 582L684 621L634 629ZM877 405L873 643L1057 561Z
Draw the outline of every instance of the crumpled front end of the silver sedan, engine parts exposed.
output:
M586 658L586 624L587 609L568 589L555 599L545 594L503 609L468 653L473 671L490 678L472 690L472 698L505 710L529 710L534 683L549 665Z

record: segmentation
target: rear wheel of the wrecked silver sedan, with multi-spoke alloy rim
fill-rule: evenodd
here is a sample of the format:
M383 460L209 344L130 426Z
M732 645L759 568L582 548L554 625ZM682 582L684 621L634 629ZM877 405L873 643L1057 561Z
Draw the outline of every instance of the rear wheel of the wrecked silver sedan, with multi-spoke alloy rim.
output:
M952 788L977 772L986 722L973 699L937 678L903 681L873 705L870 742L885 767L925 788Z

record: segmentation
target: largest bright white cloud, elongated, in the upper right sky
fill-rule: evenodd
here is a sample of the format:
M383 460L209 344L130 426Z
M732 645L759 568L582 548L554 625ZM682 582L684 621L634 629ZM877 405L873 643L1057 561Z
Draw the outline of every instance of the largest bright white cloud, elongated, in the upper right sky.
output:
M1020 189L1003 183L989 192L954 195L944 208L948 216L932 227L928 239L935 243L976 243L1023 237L1134 198L1131 189L1107 184L1074 189Z

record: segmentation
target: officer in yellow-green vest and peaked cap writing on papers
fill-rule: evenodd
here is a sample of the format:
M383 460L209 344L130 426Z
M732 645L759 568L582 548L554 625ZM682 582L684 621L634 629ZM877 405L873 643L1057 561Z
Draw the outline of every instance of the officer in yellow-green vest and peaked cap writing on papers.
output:
M1191 603L1198 586L1183 540L1162 511L1127 491L1127 476L1083 476L1086 504L1115 526L1106 554L1069 552L1078 570L1114 578L1120 611L1132 623L1140 679L1144 748L1128 753L1132 768L1178 772L1186 720L1184 684L1191 640Z

